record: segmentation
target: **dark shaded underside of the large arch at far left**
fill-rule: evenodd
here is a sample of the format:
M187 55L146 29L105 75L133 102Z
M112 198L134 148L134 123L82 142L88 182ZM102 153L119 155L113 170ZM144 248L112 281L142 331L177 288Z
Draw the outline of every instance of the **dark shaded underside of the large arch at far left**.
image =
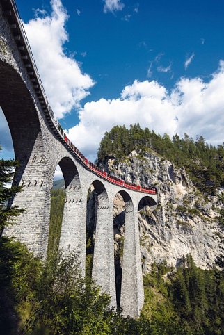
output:
M6 117L13 140L15 159L20 162L16 182L35 154L35 147L43 150L38 113L26 84L17 71L0 60L0 106Z

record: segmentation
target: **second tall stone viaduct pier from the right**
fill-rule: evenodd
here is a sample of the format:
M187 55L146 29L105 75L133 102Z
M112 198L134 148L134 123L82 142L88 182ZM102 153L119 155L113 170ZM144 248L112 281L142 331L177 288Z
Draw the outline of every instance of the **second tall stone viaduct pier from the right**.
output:
M102 288L102 291L111 295L111 306L116 306L113 261L113 214L109 204L109 196L102 181L96 179L92 185L97 194L97 224L92 278Z

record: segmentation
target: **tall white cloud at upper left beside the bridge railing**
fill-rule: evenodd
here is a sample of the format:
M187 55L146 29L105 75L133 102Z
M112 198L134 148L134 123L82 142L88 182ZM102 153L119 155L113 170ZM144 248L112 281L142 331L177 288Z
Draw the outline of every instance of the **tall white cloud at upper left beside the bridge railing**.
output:
M24 27L49 103L60 118L74 106L79 107L94 82L88 74L83 74L73 56L65 54L63 45L68 40L65 30L68 15L61 0L51 0L51 6L51 15L35 17Z

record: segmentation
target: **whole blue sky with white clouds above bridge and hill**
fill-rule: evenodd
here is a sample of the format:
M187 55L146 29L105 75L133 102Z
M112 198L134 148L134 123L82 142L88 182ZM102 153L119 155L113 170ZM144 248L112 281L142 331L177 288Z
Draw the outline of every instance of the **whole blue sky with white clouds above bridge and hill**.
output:
M90 158L115 124L224 141L224 1L17 6L54 113Z

